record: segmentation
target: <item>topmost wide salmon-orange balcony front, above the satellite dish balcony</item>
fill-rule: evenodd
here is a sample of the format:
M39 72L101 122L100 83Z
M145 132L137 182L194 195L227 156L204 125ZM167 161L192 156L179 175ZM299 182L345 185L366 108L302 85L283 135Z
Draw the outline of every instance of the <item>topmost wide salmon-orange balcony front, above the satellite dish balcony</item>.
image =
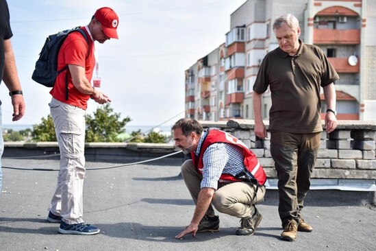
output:
M359 45L360 29L314 29L316 45Z

